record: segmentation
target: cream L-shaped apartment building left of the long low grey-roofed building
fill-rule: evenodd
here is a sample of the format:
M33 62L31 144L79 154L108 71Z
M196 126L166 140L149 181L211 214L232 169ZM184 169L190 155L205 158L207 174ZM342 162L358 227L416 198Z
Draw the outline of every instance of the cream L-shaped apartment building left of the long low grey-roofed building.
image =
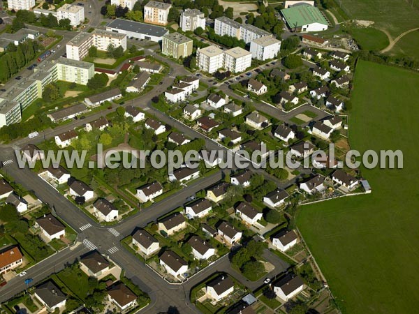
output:
M93 33L78 33L66 45L67 58L82 60L89 54L89 48L95 46L98 50L106 51L109 45L121 46L126 50L126 35L112 31L96 29Z

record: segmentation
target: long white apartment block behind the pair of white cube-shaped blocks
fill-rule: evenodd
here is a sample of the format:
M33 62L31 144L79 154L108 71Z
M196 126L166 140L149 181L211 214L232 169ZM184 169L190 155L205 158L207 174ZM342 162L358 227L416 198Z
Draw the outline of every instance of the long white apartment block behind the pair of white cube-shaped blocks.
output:
M250 43L251 40L263 36L272 36L271 33L263 29L259 29L250 24L240 24L224 16L215 19L214 30L219 36L227 35L236 37L244 40L245 43Z

